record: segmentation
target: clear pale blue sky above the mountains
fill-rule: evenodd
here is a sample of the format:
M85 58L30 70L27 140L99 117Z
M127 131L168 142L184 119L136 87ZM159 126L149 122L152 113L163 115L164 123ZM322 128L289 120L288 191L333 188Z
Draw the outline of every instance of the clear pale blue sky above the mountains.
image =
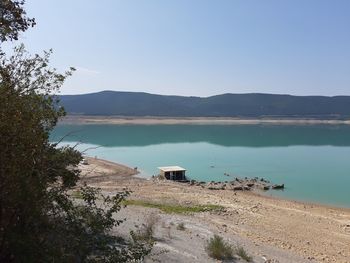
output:
M100 90L350 95L348 0L27 0L21 38Z

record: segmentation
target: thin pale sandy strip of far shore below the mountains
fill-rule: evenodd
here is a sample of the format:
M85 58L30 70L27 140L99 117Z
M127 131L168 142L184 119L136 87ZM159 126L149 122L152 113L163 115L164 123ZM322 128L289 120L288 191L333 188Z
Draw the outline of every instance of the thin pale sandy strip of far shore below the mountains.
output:
M63 118L62 124L139 124L139 125L349 125L350 120L319 120L319 119L293 119L293 118L225 118L225 117L123 117L123 116L82 116L68 115Z

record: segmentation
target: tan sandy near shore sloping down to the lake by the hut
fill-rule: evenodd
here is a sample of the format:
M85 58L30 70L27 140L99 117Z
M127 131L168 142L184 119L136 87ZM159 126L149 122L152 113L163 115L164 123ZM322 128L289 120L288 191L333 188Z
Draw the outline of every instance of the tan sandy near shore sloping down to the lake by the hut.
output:
M188 226L204 229L202 233L191 232L187 239L181 236L181 243L189 242L188 246L193 244L192 238L209 231L244 244L254 256L254 262L266 262L262 260L264 257L270 258L270 262L350 262L350 209L252 192L213 191L170 181L145 180L134 177L137 171L123 165L93 158L88 158L88 162L89 165L81 167L82 173L87 174L84 180L108 193L128 189L132 191L131 199L224 206L225 211L219 214L176 216L157 212L164 222L186 220ZM136 217L149 211L140 209L130 207L127 213ZM174 251L179 250L176 247L179 244L171 244ZM212 262L201 258L203 253L197 255L190 249L188 253L194 253L193 262ZM170 258L162 260L172 262Z

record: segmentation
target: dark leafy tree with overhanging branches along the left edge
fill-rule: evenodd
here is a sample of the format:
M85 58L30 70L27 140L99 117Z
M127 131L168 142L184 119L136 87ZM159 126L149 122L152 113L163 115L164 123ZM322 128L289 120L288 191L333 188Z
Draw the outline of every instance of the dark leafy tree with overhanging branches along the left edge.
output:
M2 0L0 43L34 23L23 2ZM50 52L30 56L23 45L0 52L0 261L127 262L150 253L152 240L121 239L111 230L128 195L103 196L78 186L81 153L50 143L64 116L59 88L74 71L49 67ZM82 200L70 195L79 189Z

